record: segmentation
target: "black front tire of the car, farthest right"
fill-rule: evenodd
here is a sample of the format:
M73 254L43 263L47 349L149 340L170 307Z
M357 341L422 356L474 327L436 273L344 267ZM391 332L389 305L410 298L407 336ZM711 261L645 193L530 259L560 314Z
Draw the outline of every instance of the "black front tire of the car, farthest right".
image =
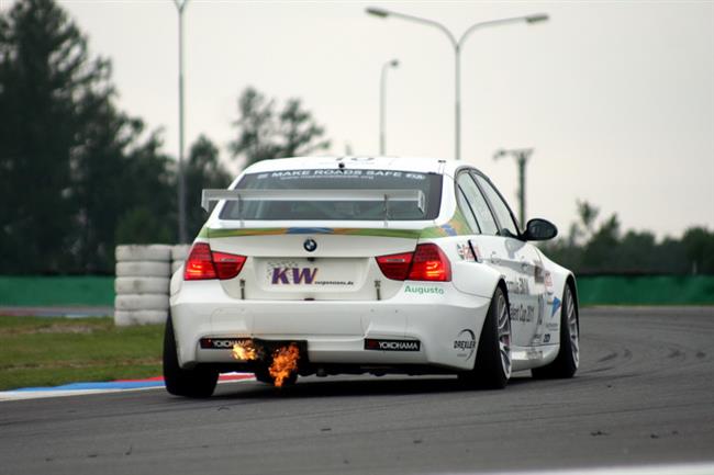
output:
M572 377L580 361L580 323L578 306L572 297L569 284L562 292L560 307L560 349L556 359L543 366L534 367L531 374L536 380L556 380Z

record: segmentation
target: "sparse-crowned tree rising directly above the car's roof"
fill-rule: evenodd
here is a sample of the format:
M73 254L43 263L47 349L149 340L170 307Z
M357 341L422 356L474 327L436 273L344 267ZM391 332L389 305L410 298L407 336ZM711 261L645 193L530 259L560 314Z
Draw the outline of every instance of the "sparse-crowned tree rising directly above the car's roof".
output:
M230 144L233 157L243 157L246 167L260 160L309 155L330 147L325 129L302 109L299 99L290 99L276 112L276 101L255 88L238 98L238 118L233 123L238 136Z

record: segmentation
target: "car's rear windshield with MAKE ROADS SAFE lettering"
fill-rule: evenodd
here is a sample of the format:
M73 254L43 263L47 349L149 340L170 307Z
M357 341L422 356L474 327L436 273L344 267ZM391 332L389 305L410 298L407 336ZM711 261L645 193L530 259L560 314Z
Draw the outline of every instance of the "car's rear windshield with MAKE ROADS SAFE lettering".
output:
M398 170L315 169L249 173L237 190L421 190L425 206L389 202L389 220L435 219L442 199L442 176ZM228 201L221 219L382 220L383 197L375 201ZM242 216L241 216L242 215Z

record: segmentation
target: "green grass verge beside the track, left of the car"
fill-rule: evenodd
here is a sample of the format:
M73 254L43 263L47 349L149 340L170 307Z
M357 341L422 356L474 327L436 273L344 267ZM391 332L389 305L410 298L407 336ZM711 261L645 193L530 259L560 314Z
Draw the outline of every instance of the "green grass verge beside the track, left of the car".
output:
M163 325L0 316L0 391L161 374Z

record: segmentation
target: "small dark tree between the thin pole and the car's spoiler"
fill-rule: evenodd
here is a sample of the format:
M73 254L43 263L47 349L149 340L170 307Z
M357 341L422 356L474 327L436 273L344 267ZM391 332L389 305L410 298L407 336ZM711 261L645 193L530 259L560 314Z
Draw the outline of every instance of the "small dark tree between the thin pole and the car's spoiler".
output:
M189 236L201 230L207 214L201 208L201 191L210 188L227 188L231 174L219 160L219 149L205 136L201 135L191 146L186 166L187 227Z

